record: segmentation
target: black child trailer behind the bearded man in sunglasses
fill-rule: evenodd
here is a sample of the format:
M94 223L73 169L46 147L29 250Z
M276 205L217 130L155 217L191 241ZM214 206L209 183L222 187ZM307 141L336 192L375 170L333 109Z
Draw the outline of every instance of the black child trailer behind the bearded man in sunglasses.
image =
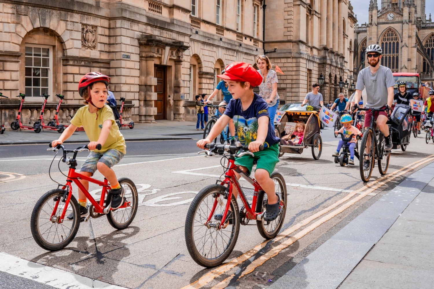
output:
M410 143L411 107L406 104L396 104L388 124L391 124L392 149L398 149L398 146L401 146L404 152Z

